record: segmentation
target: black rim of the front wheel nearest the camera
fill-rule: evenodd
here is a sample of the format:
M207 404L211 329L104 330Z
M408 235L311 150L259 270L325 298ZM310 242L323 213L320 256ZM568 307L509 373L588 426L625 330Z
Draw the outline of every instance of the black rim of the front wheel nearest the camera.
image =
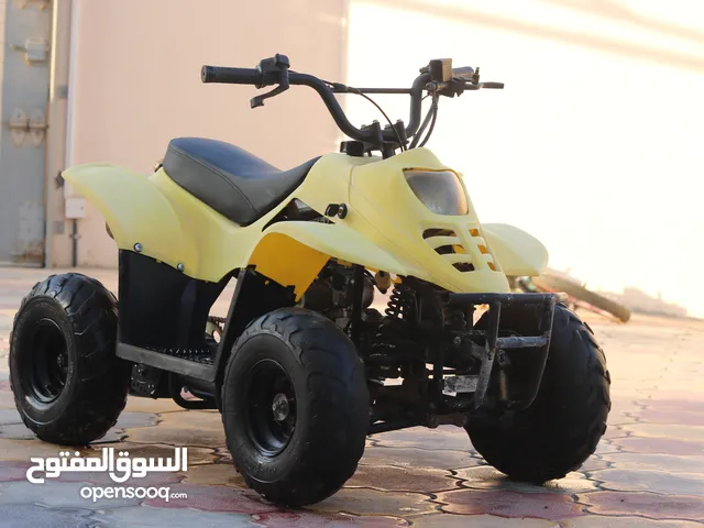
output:
M245 393L249 436L264 457L279 454L296 428L296 393L288 373L273 360L256 363Z

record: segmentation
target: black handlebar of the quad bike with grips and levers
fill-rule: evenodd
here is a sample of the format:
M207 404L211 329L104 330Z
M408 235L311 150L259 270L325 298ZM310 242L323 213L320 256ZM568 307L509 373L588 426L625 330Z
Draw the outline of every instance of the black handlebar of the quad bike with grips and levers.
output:
M386 128L384 130L373 130L373 128L358 129L354 127L340 107L340 103L334 97L334 94L407 94L410 96L410 118L408 125L406 127L406 138L411 138L420 127L421 114L421 101L422 92L425 89L431 89L431 86L436 86L439 89L440 95L449 95L453 97L454 94L461 94L465 87L470 89L479 88L503 88L501 82L482 82L477 84L479 70L474 72L471 67L452 69L452 78L450 81L437 82L432 81L432 74L429 69L421 69L421 74L416 77L410 89L396 89L396 88L377 88L377 89L355 89L350 88L341 84L327 82L318 77L308 74L299 74L288 70L288 58L283 55L275 57L277 61L276 66L272 67L270 63L266 67L262 67L261 63L258 68L231 68L223 66L204 66L200 73L202 82L220 82L229 85L253 85L256 88L263 88L265 86L272 86L279 84L279 89L275 92L264 95L260 98L258 102L254 105L260 106L262 100L266 97L276 95L284 89L288 88L288 85L308 86L316 90L322 101L324 102L328 111L332 116L338 128L348 136L363 142L377 143L380 140L384 142L397 142L398 131L393 128ZM273 61L273 59L268 59ZM285 62L279 62L285 61ZM285 69L276 69L284 65ZM282 80L287 80L285 88L280 89ZM474 84L471 84L474 82ZM466 85L465 85L466 84ZM442 89L440 89L442 85ZM501 86L499 86L501 85Z

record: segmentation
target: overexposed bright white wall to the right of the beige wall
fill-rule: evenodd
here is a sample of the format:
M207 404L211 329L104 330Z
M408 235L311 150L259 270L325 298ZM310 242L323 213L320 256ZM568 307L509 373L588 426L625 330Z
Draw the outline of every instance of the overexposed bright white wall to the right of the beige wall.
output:
M441 57L505 81L441 100L428 143L465 173L480 218L532 232L587 285L704 316L703 20L688 0L352 0L349 81L408 86ZM403 53L380 57L371 35ZM376 99L408 119L407 98Z

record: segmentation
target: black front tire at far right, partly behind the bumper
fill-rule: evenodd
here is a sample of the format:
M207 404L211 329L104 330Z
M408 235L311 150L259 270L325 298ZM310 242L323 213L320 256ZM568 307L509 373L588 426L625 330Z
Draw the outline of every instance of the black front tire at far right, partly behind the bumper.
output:
M516 312L502 327L524 333ZM525 323L522 324L525 327ZM512 479L543 483L579 469L606 431L610 410L606 358L592 330L564 306L554 309L550 353L540 391L515 427L468 426L486 462Z

